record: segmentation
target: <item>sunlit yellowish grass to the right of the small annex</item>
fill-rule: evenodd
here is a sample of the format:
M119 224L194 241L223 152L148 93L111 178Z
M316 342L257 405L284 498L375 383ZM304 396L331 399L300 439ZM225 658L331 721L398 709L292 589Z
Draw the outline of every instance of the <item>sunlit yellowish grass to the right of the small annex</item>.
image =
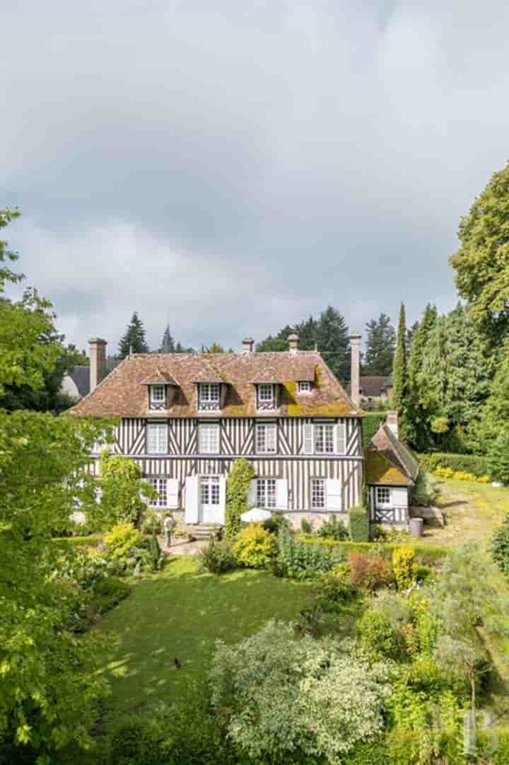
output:
M446 513L446 526L425 526L423 542L448 546L478 542L487 549L494 529L509 513L509 490L469 481L434 480L439 490L436 505Z

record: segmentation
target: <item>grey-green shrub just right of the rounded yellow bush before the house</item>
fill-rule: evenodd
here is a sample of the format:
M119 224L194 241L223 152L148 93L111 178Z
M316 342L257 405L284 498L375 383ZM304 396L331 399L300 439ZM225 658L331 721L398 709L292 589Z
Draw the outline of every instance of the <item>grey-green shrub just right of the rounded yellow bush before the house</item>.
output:
M330 571L341 562L341 550L326 545L297 542L287 529L277 535L277 550L273 560L274 574L290 579L310 579Z

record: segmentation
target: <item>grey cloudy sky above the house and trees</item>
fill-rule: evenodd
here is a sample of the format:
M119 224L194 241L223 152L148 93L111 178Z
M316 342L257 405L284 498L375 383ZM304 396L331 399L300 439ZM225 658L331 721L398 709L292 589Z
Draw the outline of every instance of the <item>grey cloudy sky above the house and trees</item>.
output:
M74 6L73 9L72 6ZM444 7L445 6L445 7ZM509 156L507 2L0 0L0 207L83 346L238 346L337 306L456 300Z

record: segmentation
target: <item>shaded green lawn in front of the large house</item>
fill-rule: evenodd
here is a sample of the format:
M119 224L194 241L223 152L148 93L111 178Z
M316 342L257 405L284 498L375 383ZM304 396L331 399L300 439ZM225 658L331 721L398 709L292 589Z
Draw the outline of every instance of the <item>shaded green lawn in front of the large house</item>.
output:
M218 638L236 643L271 618L296 619L313 586L267 571L213 576L197 568L191 556L170 558L159 574L135 581L131 595L96 627L113 716L154 699L170 701L186 681L205 677ZM354 623L355 608L337 631L348 633Z

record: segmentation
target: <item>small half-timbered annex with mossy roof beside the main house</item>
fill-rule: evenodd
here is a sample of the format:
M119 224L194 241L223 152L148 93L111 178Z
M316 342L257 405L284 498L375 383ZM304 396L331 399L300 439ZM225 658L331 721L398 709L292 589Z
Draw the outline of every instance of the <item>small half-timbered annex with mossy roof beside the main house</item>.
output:
M371 523L407 526L419 461L397 437L397 412L387 412L365 450Z

